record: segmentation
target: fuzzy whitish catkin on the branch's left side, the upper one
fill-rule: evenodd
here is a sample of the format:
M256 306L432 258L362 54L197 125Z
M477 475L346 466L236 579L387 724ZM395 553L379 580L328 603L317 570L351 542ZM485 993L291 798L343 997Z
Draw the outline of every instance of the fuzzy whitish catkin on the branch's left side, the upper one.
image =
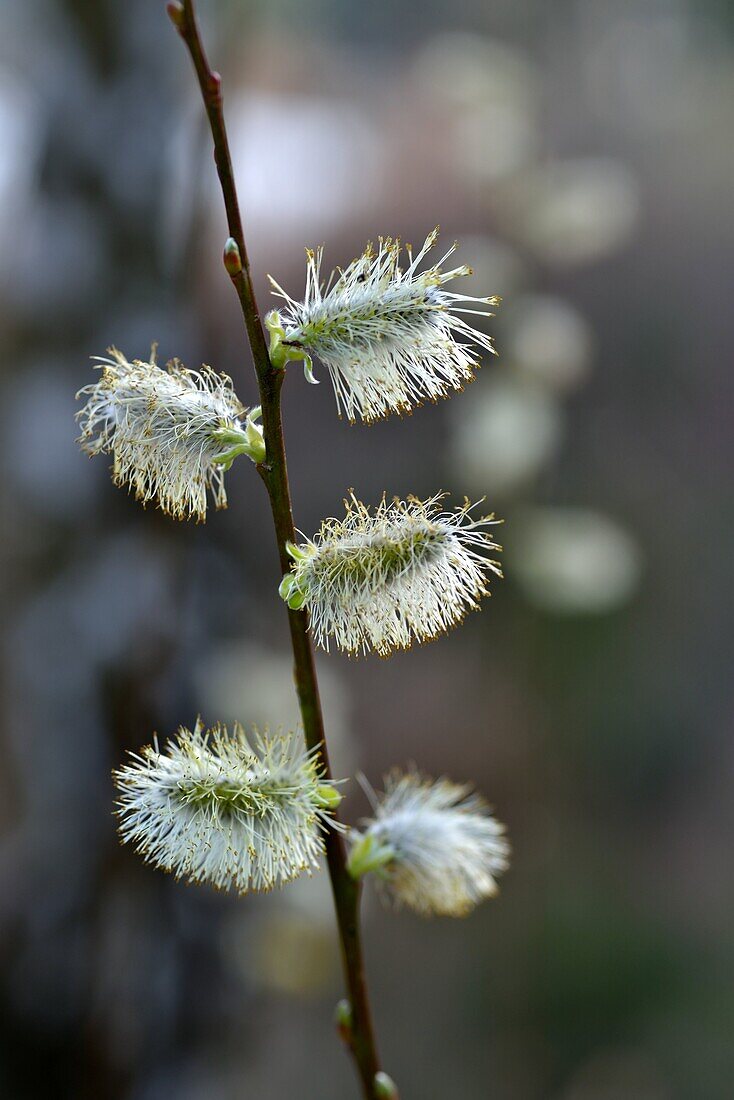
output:
M154 501L176 519L206 518L207 492L227 506L227 452L248 446L250 432L231 378L209 367L187 371L174 361L166 370L128 362L116 348L99 359L101 376L79 391L87 402L77 414L78 442L88 454L112 455L112 480L143 504Z

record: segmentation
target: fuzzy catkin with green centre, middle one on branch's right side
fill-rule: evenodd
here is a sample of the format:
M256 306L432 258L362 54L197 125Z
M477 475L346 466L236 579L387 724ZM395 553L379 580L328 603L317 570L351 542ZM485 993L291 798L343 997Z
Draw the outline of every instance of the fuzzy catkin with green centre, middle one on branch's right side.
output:
M292 547L281 586L292 606L305 606L316 642L333 640L349 653L424 642L461 622L489 594L487 574L502 575L487 551L499 550L493 516L472 518L467 501L441 508L428 501L384 497L371 512L352 494L343 519L326 519L313 539Z

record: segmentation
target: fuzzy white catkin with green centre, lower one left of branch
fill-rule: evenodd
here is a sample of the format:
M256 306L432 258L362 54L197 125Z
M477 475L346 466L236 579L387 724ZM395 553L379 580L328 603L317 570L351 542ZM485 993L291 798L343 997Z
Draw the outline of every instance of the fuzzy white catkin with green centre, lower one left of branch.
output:
M182 728L113 773L120 835L188 882L271 890L317 866L330 820L314 754L294 734Z

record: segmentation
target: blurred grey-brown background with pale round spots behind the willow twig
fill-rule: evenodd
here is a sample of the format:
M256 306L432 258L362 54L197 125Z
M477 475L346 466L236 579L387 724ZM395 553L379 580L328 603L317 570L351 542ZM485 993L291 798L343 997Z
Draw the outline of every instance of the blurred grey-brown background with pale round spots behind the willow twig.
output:
M296 520L354 486L506 520L506 580L393 658L319 657L340 774L472 779L500 897L368 890L404 1100L724 1100L734 1053L731 306L723 0L200 0L258 292L304 246L440 222L503 305L451 402L349 427L285 394ZM296 722L265 495L143 512L75 444L114 343L255 388L189 63L151 0L0 3L4 473L0 1094L346 1100L326 875L243 900L118 846L110 769L208 722ZM464 287L461 287L464 289ZM467 287L469 290L469 287ZM346 815L366 811L355 783Z

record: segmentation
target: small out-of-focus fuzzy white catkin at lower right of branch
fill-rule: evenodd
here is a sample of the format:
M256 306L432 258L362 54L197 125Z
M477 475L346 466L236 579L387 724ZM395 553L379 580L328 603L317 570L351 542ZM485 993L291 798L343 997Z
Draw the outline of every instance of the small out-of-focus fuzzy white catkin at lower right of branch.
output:
M393 772L363 825L352 851L365 838L382 850L380 889L421 916L465 916L497 892L510 864L504 826L468 785L448 779Z

